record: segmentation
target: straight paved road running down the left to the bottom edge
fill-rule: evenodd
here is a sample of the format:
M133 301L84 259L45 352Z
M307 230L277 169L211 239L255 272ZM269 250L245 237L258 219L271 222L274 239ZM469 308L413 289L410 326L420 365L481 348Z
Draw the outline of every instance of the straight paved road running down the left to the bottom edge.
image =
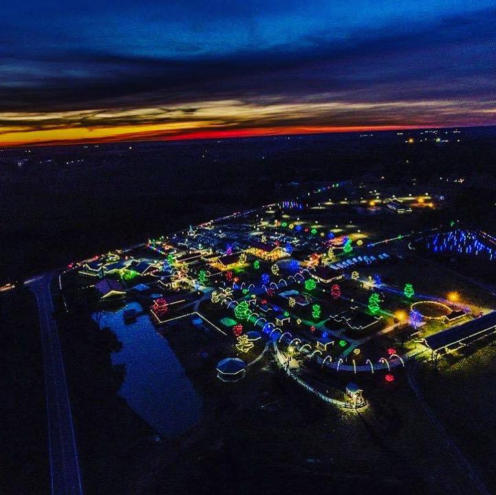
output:
M71 407L61 344L50 294L51 273L30 280L27 285L36 295L41 328L41 346L45 368L48 437L50 449L50 479L52 495L82 495L78 453L74 439Z

